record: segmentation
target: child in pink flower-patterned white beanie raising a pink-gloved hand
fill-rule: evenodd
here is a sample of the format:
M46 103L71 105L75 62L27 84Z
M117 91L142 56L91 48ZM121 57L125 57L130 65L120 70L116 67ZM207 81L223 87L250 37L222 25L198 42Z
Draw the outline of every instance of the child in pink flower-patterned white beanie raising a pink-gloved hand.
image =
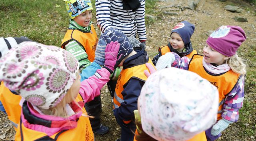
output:
M58 47L24 42L2 57L0 80L25 100L15 140L94 141L81 107L100 95L114 70L119 46L107 45L105 66L82 82L78 61Z

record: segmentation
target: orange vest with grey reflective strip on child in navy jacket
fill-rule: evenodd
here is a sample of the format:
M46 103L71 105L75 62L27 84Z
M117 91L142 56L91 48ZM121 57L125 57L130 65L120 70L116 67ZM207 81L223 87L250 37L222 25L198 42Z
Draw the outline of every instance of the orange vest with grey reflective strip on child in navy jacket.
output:
M148 60L148 63L151 63L152 66L154 66L150 59ZM145 64L142 64L142 65L137 65L137 66L130 67L127 69L123 69L120 72L120 75L119 75L117 83L116 83L116 90L115 90L114 99L113 99L113 108L114 109L119 108L121 103L124 102L124 98L123 98L123 95L121 94L121 92L124 90L124 85L131 78L137 78L144 82L147 80L148 77L144 74L144 70L148 70L148 68L146 67Z

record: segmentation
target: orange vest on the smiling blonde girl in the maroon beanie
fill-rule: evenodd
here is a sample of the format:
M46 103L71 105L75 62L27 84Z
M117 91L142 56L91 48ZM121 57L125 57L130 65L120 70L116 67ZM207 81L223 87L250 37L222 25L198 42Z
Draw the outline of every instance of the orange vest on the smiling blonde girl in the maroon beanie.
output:
M190 63L188 65L188 71L195 72L200 75L202 78L210 81L214 86L218 88L219 91L219 109L218 109L218 120L221 118L222 106L226 95L233 90L234 86L238 82L240 74L233 72L231 69L221 75L210 75L208 74L203 67L203 55L193 55Z

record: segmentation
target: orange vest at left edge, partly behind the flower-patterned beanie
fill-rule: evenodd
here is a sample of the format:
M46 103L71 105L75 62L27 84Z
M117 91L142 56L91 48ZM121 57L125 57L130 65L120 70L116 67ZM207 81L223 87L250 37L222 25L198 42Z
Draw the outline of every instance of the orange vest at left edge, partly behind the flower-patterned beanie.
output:
M20 121L20 100L20 95L13 94L6 86L4 86L4 82L1 82L0 101L2 102L4 110L6 111L6 114L15 130L17 129Z

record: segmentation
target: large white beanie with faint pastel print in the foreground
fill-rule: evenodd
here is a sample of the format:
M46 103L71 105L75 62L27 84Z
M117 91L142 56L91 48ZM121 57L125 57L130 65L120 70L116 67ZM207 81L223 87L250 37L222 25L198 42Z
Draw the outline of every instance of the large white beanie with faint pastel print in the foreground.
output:
M151 74L140 92L142 129L158 141L185 141L217 120L219 93L198 74L168 68Z

